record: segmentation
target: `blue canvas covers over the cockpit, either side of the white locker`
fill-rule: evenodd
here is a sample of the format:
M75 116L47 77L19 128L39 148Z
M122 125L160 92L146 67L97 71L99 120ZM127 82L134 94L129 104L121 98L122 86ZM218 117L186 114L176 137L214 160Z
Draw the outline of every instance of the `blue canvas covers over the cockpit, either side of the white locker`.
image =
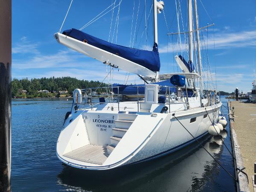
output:
M172 92L176 93L175 85L173 85L170 82L170 80L160 81L160 82L152 83L152 84L159 84L160 86L169 86L170 87L170 93L172 93ZM145 85L144 84L136 84L136 85L113 84L113 87L114 86L119 86L119 94L121 94L121 95L135 95L135 94L137 94L137 86L139 87L138 88L139 94L144 94L145 93L145 87L144 87ZM166 93L169 93L169 87L160 87L159 94L164 95ZM113 92L115 94L118 93L117 87L113 88Z

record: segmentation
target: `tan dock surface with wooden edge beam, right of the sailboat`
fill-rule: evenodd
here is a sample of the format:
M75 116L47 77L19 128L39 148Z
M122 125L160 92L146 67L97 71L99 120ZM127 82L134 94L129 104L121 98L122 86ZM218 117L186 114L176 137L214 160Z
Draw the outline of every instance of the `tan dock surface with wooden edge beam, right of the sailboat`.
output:
M241 101L228 102L229 121L235 169L243 169L247 176L236 170L237 191L256 192L253 185L256 162L256 104ZM234 108L234 109L233 109Z

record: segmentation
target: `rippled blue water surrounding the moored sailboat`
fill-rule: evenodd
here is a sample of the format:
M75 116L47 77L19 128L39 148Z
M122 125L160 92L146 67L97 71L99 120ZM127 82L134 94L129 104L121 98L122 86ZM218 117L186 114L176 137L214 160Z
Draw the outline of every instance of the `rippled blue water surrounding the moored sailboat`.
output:
M72 100L64 99L12 100L12 192L236 190L234 180L197 143L116 170L80 170L61 163L55 146L71 105ZM221 135L231 151L229 125ZM200 142L235 177L233 159L218 145L218 137Z

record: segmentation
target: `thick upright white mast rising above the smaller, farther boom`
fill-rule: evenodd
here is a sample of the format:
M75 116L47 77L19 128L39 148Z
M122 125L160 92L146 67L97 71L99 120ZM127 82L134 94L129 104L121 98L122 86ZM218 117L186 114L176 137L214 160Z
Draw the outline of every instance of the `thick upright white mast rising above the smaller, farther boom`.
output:
M192 0L188 0L188 12L189 12L189 64L193 62L193 21L192 21Z

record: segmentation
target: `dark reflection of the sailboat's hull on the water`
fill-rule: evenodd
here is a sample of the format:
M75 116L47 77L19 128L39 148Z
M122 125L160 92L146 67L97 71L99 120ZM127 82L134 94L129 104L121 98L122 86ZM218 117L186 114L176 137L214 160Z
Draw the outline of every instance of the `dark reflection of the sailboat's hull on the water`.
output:
M224 139L227 131L221 131L221 135ZM220 159L223 145L219 137L199 141ZM64 163L62 166L58 184L75 191L201 191L219 172L217 163L198 143L156 160L114 170L81 170Z

